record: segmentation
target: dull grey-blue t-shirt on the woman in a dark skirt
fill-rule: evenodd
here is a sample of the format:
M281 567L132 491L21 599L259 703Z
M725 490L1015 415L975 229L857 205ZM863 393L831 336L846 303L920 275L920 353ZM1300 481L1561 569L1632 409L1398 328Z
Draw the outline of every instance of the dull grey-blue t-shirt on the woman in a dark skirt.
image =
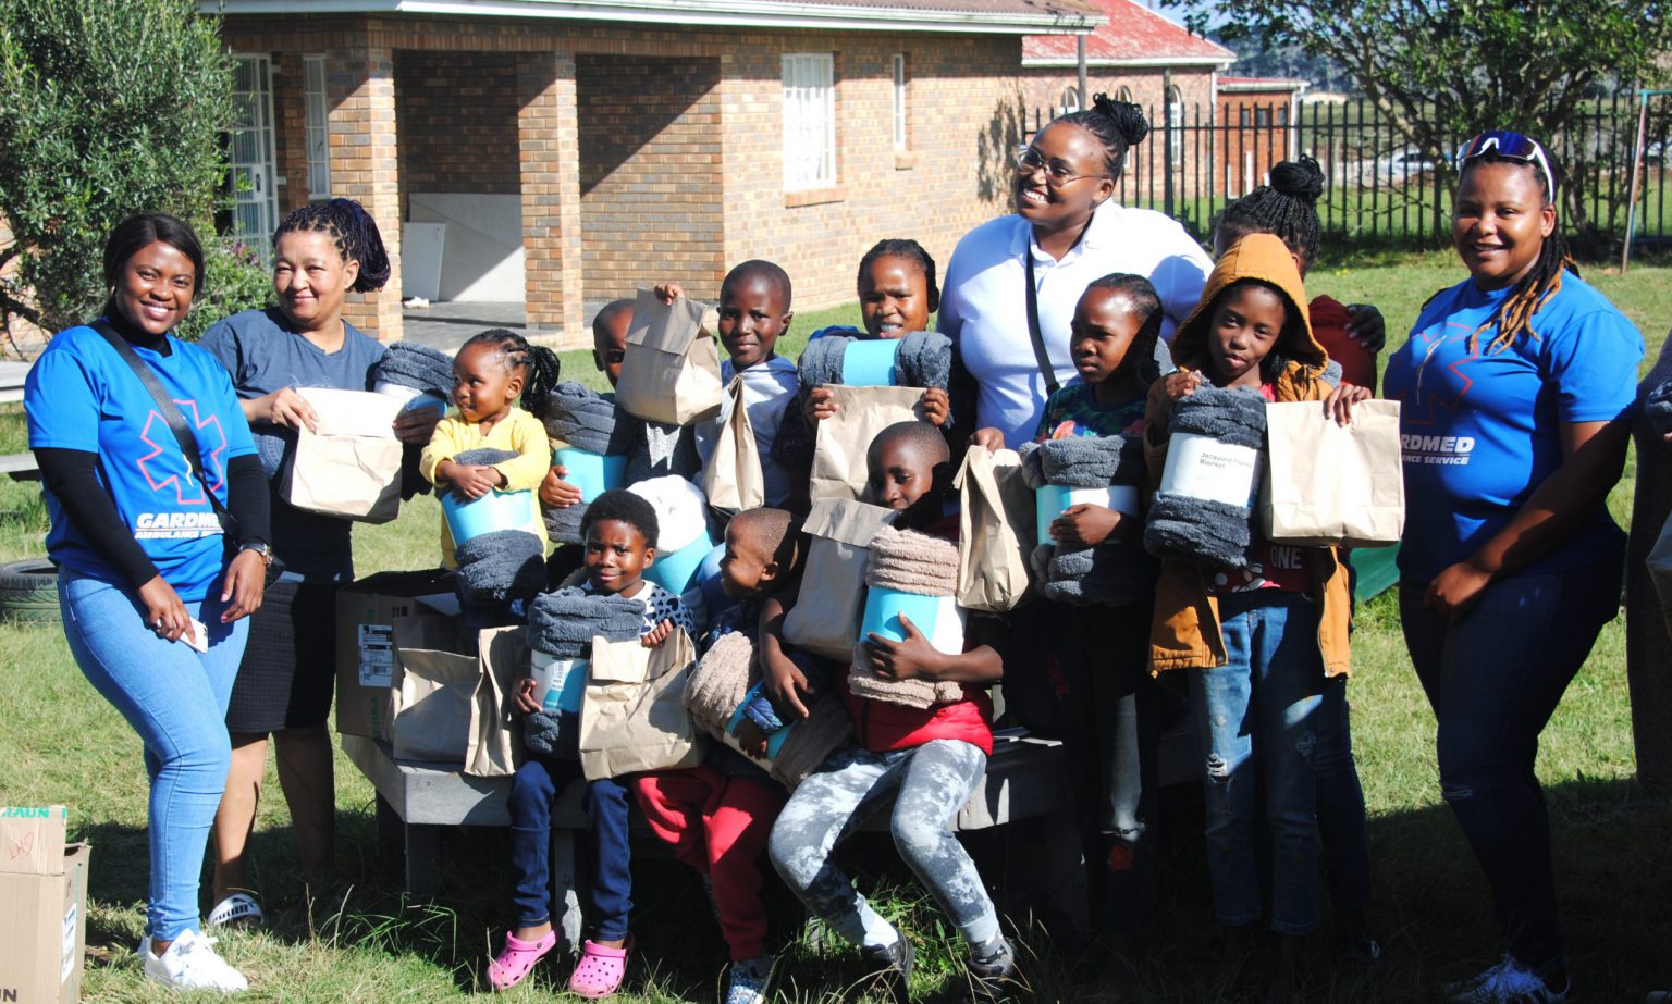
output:
M354 326L344 322L343 327L343 347L326 352L296 332L283 311L268 307L216 322L197 344L232 374L239 399L261 398L281 388L370 391L371 368L386 349ZM279 498L279 474L286 454L294 449L296 433L266 423L252 424L251 431L273 486L273 551L289 571L304 578L351 581L353 523L304 513Z

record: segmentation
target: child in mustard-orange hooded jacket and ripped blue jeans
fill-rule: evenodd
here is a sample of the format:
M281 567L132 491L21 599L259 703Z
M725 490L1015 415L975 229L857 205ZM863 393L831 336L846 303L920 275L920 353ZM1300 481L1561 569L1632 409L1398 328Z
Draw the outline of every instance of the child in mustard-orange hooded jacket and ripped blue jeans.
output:
M1162 481L1175 411L1214 409L1179 423L1192 433L1237 426L1251 409L1262 424L1262 401L1321 401L1326 414L1349 421L1351 406L1369 391L1331 389L1323 381L1326 356L1304 304L1301 276L1277 237L1252 234L1219 259L1202 302L1174 337L1179 369L1150 389L1152 488ZM1150 530L1164 499L1175 505L1174 523L1200 520L1200 513L1222 520L1234 510L1169 493L1152 503ZM1271 929L1279 936L1266 996L1274 1004L1291 999L1301 939L1318 929L1313 715L1324 678L1348 672L1348 576L1336 548L1277 546L1247 528L1207 536L1219 546L1249 541L1246 556L1241 566L1204 566L1167 551L1155 590L1150 668L1189 670L1204 753L1214 912L1226 929L1224 982L1246 971L1261 919L1254 827L1257 792L1264 792ZM1149 533L1147 543L1155 550Z

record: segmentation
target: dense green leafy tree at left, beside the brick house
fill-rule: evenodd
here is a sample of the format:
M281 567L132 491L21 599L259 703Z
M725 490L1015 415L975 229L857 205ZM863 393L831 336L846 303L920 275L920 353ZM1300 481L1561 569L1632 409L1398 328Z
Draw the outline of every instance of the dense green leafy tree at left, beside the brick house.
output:
M194 0L0 2L0 324L57 331L104 302L105 237L140 210L179 216L211 256L192 336L263 286L212 241L226 180L232 60ZM227 302L214 302L216 299ZM219 307L219 309L217 309Z

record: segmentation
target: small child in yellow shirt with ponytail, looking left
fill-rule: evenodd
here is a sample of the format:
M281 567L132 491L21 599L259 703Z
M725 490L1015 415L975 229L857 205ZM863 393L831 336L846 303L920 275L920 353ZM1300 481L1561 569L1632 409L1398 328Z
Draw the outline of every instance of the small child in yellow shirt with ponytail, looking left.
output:
M512 331L495 327L472 337L453 357L453 404L458 414L443 418L430 436L418 469L436 486L465 499L493 489L528 491L528 530L545 543L545 521L535 489L552 466L552 443L535 416L517 408L518 398L538 411L557 386L557 352L530 346ZM460 464L455 456L470 449L505 449L515 458L497 464ZM513 528L507 528L513 530ZM456 568L453 533L441 520L441 565Z

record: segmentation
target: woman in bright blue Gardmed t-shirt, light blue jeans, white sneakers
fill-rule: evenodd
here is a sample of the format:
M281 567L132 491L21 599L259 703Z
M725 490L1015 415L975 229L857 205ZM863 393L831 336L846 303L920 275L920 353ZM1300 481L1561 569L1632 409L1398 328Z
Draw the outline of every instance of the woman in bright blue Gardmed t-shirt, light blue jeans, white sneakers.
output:
M209 352L169 334L202 274L196 234L172 216L117 226L104 254L104 316L52 337L28 371L23 409L70 653L145 743L145 976L241 991L242 974L199 934L197 875L231 757L221 720L244 618L261 606L273 550L261 461L232 383ZM184 418L197 469L142 371ZM232 525L237 536L226 540Z

